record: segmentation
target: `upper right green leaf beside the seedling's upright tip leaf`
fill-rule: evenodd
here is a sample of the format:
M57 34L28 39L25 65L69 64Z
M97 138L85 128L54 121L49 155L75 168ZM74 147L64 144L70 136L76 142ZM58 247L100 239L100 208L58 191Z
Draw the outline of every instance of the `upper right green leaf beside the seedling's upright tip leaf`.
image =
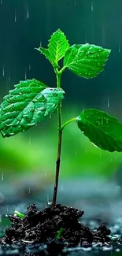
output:
M65 54L64 68L77 76L93 78L103 71L111 50L89 43L75 44Z

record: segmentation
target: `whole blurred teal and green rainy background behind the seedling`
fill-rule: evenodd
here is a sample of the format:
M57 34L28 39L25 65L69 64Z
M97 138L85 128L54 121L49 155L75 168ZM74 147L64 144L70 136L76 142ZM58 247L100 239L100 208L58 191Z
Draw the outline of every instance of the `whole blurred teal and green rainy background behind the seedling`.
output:
M54 70L35 47L46 47L50 35L61 28L70 44L94 43L112 49L105 71L93 80L65 71L63 121L84 108L103 109L122 120L121 12L121 0L1 0L0 101L20 80L35 78L55 87ZM51 199L56 154L56 113L28 132L9 139L1 136L1 201L32 195ZM84 207L86 200L90 206L96 196L116 201L121 196L121 165L121 153L99 150L76 124L68 125L63 137L59 200L79 204L85 198ZM99 203L102 206L101 200ZM115 212L114 207L111 211Z

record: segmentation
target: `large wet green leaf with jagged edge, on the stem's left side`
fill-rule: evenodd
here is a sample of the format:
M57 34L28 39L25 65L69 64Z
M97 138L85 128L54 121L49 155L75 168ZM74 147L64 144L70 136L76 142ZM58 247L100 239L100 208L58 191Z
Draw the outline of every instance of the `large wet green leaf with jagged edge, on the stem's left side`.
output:
M3 137L25 132L53 113L63 98L62 89L46 87L37 80L20 81L9 91L0 106L0 131Z

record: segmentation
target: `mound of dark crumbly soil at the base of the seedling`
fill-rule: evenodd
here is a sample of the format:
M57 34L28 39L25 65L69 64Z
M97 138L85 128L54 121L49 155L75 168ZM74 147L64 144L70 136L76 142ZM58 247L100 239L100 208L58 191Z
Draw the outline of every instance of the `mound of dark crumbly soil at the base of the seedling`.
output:
M2 244L47 243L56 240L58 247L91 247L92 243L110 243L110 230L104 224L96 231L79 223L83 211L57 204L54 210L39 211L35 204L28 206L24 218L9 215L12 225L1 239ZM63 228L61 238L57 233ZM54 242L53 242L54 243Z

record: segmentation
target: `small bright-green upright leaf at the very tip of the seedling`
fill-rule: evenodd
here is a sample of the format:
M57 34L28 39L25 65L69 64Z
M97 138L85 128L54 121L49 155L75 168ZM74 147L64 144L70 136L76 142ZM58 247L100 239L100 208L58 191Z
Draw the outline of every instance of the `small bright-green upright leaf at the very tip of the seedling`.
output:
M69 47L65 34L58 29L51 35L48 49L39 47L37 50L39 50L41 54L44 54L54 67L58 67L58 61L65 56Z

